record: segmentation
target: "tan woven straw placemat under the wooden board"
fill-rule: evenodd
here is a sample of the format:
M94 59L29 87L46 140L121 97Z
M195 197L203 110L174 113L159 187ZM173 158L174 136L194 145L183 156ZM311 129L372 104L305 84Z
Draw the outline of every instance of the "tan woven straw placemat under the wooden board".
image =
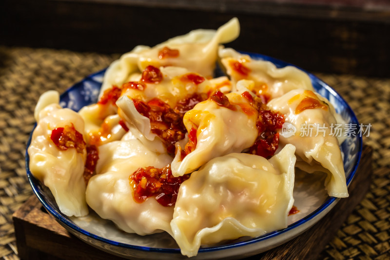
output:
M0 46L0 257L17 257L12 213L32 195L24 153L39 96L65 91L119 55ZM373 180L366 198L320 259L390 259L390 79L317 74L348 101L360 123L372 125Z

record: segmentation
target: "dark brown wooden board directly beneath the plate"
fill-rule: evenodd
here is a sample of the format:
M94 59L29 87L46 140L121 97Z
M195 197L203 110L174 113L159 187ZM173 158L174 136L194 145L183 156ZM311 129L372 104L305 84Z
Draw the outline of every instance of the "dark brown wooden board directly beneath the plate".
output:
M315 260L334 237L354 207L364 198L371 182L372 149L364 146L357 173L349 188L350 197L341 199L328 215L297 238L248 259ZM42 209L37 197L30 197L13 215L21 260L121 260L69 234Z

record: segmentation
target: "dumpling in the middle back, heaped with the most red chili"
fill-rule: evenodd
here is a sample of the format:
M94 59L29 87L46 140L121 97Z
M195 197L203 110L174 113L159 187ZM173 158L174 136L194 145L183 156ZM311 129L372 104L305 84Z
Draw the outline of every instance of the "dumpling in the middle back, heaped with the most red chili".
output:
M174 154L176 141L186 133L184 113L216 88L230 91L230 81L226 77L207 80L180 67L148 66L142 80L122 85L118 113L129 128L134 126L150 141L160 138Z

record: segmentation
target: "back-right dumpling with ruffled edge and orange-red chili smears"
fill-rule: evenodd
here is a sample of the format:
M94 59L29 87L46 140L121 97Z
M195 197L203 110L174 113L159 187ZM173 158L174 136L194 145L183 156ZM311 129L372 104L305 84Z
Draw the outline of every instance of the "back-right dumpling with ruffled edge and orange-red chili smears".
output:
M220 48L218 55L233 83L243 79L253 80L255 84L251 91L264 103L293 89L314 91L309 76L294 66L276 68L270 61L253 60L249 55L231 48Z

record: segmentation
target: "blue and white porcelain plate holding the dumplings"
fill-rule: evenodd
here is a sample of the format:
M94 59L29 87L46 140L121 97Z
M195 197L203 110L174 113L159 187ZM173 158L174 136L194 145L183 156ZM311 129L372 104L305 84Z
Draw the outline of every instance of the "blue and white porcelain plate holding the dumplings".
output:
M277 67L292 65L268 56L249 53L253 59L268 60ZM60 105L78 111L81 107L95 103L101 87L105 70L88 76L69 88L60 97ZM216 74L221 73L220 71ZM336 111L341 114L346 123L359 125L351 107L340 95L325 82L308 73L314 89L323 97L330 100ZM218 76L218 75L217 75ZM27 147L30 145L30 140ZM362 138L348 137L341 145L344 154L344 169L347 185L356 172L362 152ZM26 150L27 177L34 193L46 210L70 233L79 239L111 254L124 258L142 259L185 259L180 254L175 240L167 233L147 236L128 234L119 230L111 221L103 220L91 212L82 218L67 217L59 211L50 190L33 177L29 169L29 156ZM298 173L295 176L294 205L299 213L288 217L288 227L257 238L241 238L215 246L201 247L194 259L242 258L269 250L287 242L310 228L323 218L337 203L338 199L329 197L324 189L323 177L306 175L305 181ZM322 180L321 180L322 179Z

